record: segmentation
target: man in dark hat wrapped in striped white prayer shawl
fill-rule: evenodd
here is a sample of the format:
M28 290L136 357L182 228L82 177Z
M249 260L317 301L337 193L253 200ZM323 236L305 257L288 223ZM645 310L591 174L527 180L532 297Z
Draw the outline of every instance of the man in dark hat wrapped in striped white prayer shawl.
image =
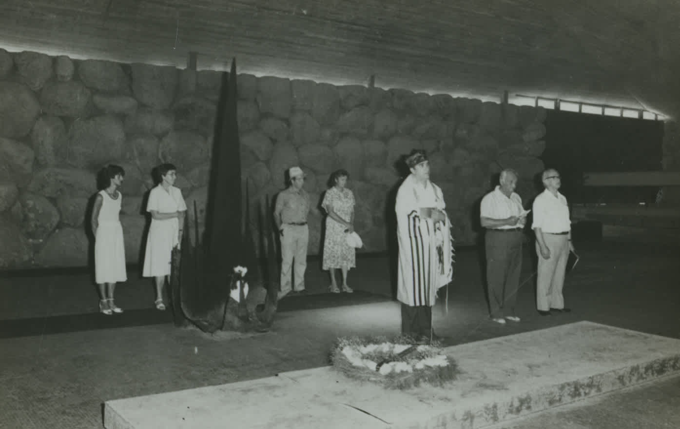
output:
M430 163L422 150L406 159L411 174L396 193L399 263L396 298L402 333L422 342L435 338L432 305L453 276L451 223L443 193L430 182Z

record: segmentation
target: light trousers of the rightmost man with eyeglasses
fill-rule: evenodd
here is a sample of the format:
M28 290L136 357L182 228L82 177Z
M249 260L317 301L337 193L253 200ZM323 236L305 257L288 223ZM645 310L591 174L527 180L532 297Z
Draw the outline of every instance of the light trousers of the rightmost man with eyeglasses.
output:
M536 285L536 308L549 311L550 308L564 308L564 270L569 257L568 235L543 233L543 240L550 251L550 257L543 259L541 248L536 242L536 253L539 256L539 270Z

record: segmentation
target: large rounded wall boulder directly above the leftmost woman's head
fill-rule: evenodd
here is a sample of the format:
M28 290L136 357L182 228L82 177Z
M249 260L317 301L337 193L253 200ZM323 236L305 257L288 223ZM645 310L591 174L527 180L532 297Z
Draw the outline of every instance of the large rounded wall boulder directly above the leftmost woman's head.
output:
M69 130L67 163L78 168L98 168L120 159L125 129L118 117L105 114L75 121Z

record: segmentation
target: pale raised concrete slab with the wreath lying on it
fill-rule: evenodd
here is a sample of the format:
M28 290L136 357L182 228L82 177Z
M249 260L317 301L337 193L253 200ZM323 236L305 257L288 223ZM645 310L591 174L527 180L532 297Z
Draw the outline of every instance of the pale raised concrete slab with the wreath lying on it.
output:
M680 340L587 321L449 347L447 387L384 390L322 367L112 400L107 429L481 428L680 373Z

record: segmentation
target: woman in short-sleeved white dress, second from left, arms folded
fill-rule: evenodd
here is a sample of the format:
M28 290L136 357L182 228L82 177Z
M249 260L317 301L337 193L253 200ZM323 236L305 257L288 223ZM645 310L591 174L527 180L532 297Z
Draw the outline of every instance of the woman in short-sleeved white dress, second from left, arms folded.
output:
M182 240L186 203L182 191L173 186L177 178L175 165L161 164L157 170L160 184L151 190L146 206L151 214L151 226L146 240L143 276L154 277L154 304L158 310L165 310L163 287L165 281L169 281L172 249Z

